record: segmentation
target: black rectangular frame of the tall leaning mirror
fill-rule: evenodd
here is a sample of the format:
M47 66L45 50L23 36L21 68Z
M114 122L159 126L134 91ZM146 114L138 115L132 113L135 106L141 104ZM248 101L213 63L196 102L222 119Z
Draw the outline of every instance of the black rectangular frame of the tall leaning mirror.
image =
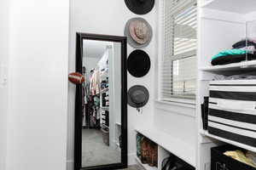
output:
M76 85L75 97L75 132L74 132L74 170L111 170L121 169L127 167L127 40L126 37L77 33L76 40L76 71L82 73L82 56L83 56L83 40L99 40L108 42L121 43L121 132L122 132L122 148L121 148L121 162L109 165L101 165L95 167L82 167L82 86Z

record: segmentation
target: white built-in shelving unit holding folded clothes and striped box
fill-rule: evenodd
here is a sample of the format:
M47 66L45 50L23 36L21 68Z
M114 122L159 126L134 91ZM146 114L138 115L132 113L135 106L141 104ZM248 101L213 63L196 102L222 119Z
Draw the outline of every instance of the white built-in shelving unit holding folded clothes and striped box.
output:
M256 71L256 60L230 65L212 66L210 61L218 52L232 48L232 44L245 37L254 37L248 23L256 20L255 0L199 0L198 23L198 91L197 91L197 170L210 170L211 148L220 144L233 144L256 152L256 148L230 139L220 138L202 130L201 104L209 96L209 81L215 75L234 75ZM255 25L256 26L256 25ZM253 26L254 27L254 26ZM256 37L256 36L255 36Z

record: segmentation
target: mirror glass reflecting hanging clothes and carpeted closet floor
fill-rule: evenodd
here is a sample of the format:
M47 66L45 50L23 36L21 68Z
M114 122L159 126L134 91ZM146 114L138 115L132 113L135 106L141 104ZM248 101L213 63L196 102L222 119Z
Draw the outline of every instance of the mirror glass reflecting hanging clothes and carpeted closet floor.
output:
M83 42L82 167L121 162L121 44Z

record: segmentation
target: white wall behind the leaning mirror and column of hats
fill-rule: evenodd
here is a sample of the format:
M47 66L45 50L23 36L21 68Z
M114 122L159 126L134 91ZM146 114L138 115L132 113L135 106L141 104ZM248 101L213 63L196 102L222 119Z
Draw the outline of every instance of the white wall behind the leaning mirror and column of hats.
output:
M108 34L124 36L124 28L127 20L138 15L131 13L126 8L123 0L71 0L71 30L70 30L70 56L69 71L75 71L75 33L88 32L96 34ZM143 114L138 114L136 109L128 107L128 152L132 156L136 152L134 127L137 124L152 124L154 110L154 60L156 59L156 7L146 15L142 16L148 20L154 29L152 42L147 48L152 61L152 68L148 75L143 78L131 77L128 73L128 88L135 84L142 84L148 88L150 99L148 105L143 108ZM128 45L128 54L132 48ZM73 167L73 127L74 127L74 96L75 86L69 85L69 107L68 107L68 140L67 140L67 165L68 169ZM130 162L133 160L130 160ZM132 163L132 162L131 162Z

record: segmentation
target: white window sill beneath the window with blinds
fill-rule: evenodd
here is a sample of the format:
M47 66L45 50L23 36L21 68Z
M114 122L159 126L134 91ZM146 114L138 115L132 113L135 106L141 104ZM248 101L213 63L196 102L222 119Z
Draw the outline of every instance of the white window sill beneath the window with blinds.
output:
M168 112L172 112L172 113L183 115L183 116L191 116L194 118L196 116L195 104L155 100L155 107L162 111L168 111Z

